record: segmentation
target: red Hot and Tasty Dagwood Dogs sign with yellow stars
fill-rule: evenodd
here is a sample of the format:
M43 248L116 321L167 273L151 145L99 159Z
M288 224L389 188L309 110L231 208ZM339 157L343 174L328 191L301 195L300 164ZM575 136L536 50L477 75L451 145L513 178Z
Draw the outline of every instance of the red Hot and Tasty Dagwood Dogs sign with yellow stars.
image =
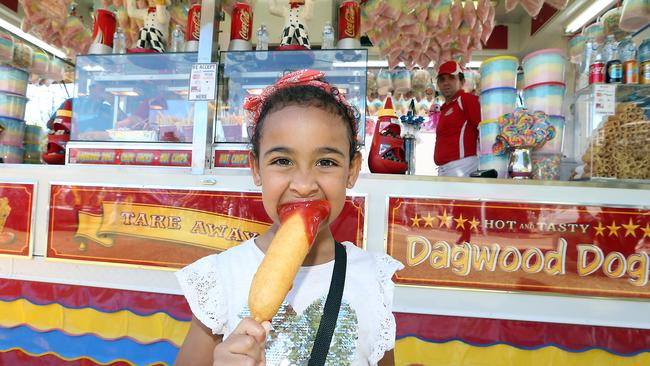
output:
M392 197L406 285L650 298L647 209Z

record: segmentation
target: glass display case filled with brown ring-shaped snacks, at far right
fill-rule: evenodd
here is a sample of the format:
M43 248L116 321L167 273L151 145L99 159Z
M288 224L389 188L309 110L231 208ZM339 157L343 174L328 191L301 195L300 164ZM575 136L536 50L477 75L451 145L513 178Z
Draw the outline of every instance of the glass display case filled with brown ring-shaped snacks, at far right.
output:
M596 88L576 93L575 178L650 180L650 85Z

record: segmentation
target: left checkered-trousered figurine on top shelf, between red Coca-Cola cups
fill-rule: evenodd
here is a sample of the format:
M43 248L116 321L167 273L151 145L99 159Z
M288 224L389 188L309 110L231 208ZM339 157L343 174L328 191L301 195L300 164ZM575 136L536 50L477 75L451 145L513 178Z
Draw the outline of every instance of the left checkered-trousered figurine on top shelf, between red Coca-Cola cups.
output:
M126 12L131 18L144 20L136 48L165 52L169 35L169 0L148 0L148 8L138 9L135 0L126 0Z

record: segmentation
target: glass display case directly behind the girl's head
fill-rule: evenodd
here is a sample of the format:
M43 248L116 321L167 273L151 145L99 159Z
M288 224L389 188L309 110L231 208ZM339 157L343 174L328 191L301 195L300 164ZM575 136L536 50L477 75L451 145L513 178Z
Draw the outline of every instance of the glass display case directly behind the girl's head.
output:
M244 99L261 93L282 75L301 69L323 71L325 79L357 108L360 121L365 121L367 60L367 50L221 52L214 141L247 143ZM365 126L360 123L360 144L364 137Z

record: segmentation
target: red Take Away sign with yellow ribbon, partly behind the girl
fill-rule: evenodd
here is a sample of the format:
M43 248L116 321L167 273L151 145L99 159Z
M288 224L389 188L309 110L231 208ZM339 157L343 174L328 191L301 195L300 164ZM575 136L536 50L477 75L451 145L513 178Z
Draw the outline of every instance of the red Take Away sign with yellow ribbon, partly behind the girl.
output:
M364 220L365 197L348 197L334 237L362 245ZM53 185L47 256L178 268L271 223L259 193Z

